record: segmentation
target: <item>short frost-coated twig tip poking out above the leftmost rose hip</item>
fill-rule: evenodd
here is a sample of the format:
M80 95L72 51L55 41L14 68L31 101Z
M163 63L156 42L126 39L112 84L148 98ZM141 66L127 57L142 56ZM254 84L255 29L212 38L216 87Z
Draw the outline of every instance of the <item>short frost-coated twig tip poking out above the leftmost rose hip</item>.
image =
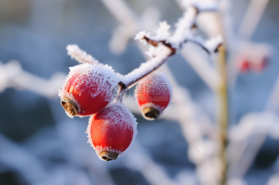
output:
M70 55L71 59L75 59L79 63L91 63L98 64L99 61L87 54L85 51L81 50L77 45L68 45L66 47L67 54Z

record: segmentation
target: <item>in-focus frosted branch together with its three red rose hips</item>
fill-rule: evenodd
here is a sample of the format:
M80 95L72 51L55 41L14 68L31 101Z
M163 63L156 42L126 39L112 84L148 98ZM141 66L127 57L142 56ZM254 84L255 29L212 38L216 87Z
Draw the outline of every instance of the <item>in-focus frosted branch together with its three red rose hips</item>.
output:
M209 55L217 52L221 37L205 42L194 36L192 28L196 15L203 10L206 8L189 6L172 34L169 32L170 25L165 21L159 23L155 36L145 31L139 32L135 40L150 44L147 52L150 59L127 75L116 73L111 66L99 63L76 45L67 46L68 54L81 64L70 67L70 73L59 92L61 104L71 118L90 116L88 142L100 159L117 159L135 139L136 118L121 101L128 89L137 85L135 94L141 113L145 119L154 120L171 98L169 82L160 74L159 67L190 42L201 46ZM113 96L113 88L117 86L118 94Z

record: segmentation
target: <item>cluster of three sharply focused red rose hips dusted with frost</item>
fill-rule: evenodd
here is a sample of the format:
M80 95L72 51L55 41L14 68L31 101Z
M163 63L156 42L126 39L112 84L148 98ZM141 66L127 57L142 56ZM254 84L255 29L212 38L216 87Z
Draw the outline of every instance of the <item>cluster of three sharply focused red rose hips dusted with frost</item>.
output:
M68 116L90 116L86 132L88 142L98 157L105 161L117 159L137 135L135 116L112 94L113 88L119 83L119 75L110 66L84 63L70 67L70 73L59 92L61 104ZM149 74L139 83L145 86L148 83L167 82L161 75ZM152 97L154 94L142 91L137 95ZM157 118L170 100L169 89L167 93L157 95L165 97L165 101L153 101L150 98L138 100L142 114L149 120Z

